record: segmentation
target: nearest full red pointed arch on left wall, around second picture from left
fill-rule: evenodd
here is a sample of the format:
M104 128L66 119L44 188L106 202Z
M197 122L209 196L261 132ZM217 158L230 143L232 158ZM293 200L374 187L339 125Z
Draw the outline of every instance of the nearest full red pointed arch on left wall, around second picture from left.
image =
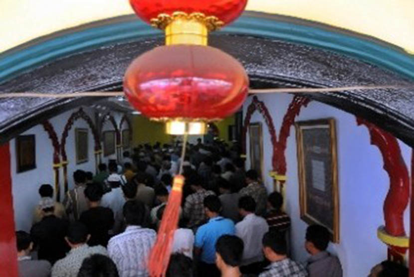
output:
M85 111L83 111L82 108L79 108L79 110L77 112L74 112L69 119L67 120L67 123L65 125L65 128L63 129L63 133L62 133L62 139L60 142L60 151L62 154L62 160L66 161L67 160L67 155L66 155L66 139L67 136L69 135L69 131L70 129L72 129L73 124L75 123L75 121L77 121L78 119L83 119L86 121L86 123L88 124L89 128L92 130L92 134L93 134L93 138L95 141L95 151L98 151L101 149L101 143L99 140L99 135L98 132L96 130L96 127L92 121L92 119L85 113Z

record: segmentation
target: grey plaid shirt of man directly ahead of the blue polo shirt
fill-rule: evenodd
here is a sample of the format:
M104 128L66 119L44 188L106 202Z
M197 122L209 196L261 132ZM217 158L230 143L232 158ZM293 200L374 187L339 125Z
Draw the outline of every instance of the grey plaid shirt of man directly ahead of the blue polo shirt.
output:
M184 204L183 215L185 218L189 219L189 227L200 225L207 219L206 213L204 212L203 201L208 195L214 195L214 192L202 188L187 196L186 203Z

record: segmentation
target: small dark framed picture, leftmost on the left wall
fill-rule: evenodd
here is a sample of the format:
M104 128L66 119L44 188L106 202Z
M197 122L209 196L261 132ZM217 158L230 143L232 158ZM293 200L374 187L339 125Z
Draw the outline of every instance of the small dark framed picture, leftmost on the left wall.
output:
M17 173L36 168L36 141L34 135L16 138Z

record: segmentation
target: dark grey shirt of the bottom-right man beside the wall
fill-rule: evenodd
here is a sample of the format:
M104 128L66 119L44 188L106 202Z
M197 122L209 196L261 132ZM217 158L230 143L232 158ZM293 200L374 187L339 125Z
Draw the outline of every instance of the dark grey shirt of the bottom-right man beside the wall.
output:
M326 251L310 257L307 270L310 277L342 277L341 263L338 258Z

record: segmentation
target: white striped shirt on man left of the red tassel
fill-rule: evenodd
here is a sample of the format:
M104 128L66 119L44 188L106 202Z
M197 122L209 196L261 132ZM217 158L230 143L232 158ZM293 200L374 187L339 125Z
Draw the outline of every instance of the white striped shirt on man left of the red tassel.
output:
M109 257L120 277L147 277L148 256L157 233L140 226L128 226L125 232L108 242Z

